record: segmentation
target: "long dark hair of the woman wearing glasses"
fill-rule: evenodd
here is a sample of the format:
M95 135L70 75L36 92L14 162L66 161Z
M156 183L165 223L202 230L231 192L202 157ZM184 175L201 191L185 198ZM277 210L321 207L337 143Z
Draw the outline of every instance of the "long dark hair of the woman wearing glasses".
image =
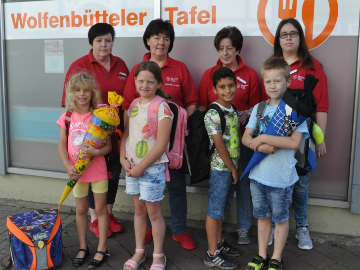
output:
M282 56L282 48L280 45L280 31L281 31L281 28L287 23L291 23L296 28L296 31L299 32L300 44L299 44L299 48L298 48L298 56L300 58L300 66L302 68L310 68L313 70L314 69L313 60L311 59L311 55L309 53L308 46L306 45L306 42L305 42L304 31L303 31L303 28L301 27L300 23L296 19L288 18L288 19L282 20L279 23L279 25L277 26L277 29L276 29L276 33L275 33L274 51L273 51L272 55Z

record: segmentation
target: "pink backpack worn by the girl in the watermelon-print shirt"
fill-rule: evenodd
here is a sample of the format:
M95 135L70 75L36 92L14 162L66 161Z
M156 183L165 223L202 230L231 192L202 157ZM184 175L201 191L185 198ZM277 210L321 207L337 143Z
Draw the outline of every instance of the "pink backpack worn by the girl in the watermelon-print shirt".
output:
M140 97L135 98L133 102L130 104L129 111L130 114L136 105L136 103L140 100ZM170 133L170 144L169 151L166 150L165 153L169 158L169 163L166 163L166 180L170 180L168 166L170 169L180 169L182 165L182 153L184 149L184 140L186 130L186 122L187 122L187 113L184 108L181 108L176 103L166 100L161 96L155 95L154 98L150 101L149 107L147 109L147 122L149 123L150 131L144 135L147 138L150 135L157 138L157 113L161 102L167 102L171 111L174 114L173 126L171 128Z

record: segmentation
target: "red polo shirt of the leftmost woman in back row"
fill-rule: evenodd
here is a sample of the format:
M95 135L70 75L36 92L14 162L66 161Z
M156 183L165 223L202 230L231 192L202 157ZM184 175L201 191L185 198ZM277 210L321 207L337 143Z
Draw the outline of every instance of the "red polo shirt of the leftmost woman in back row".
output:
M69 67L65 77L61 106L65 106L65 88L69 77L82 70L89 72L99 85L102 103L109 104L107 101L107 92L109 91L115 91L120 95L124 94L126 81L129 77L129 69L123 59L110 54L110 72L107 72L107 70L95 60L92 55L92 49L90 49L89 54L79 58Z

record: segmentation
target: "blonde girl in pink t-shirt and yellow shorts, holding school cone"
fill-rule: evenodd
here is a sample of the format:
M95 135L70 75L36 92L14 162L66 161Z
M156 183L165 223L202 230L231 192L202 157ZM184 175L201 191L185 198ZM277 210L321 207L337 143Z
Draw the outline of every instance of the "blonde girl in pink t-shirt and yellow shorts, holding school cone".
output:
M99 243L94 258L89 263L89 268L96 268L102 265L110 254L106 249L106 238L109 229L109 214L106 208L106 197L108 191L107 169L104 155L112 149L111 140L99 149L90 144L83 144L83 138L90 123L92 112L96 105L101 103L101 95L93 77L87 72L80 72L72 75L66 85L65 108L71 111L69 125L69 136L66 135L65 115L60 116L56 122L60 127L59 132L59 155L70 179L77 180L73 193L76 201L76 227L80 249L73 260L75 267L80 267L90 255L86 243L86 232L88 227L88 192L89 183L94 193L95 211L99 225ZM74 164L79 150L85 156L93 157L89 167L84 174L78 174Z

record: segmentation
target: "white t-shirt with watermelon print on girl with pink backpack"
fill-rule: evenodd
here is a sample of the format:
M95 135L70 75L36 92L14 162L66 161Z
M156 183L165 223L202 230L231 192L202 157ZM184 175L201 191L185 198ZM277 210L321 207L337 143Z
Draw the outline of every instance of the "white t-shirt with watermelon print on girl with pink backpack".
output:
M150 131L149 124L147 122L147 107L149 104L150 102L146 104L140 104L137 102L131 114L130 111L128 111L130 120L129 137L126 141L126 157L130 163L140 163L156 144L156 140L152 135L144 138L144 135ZM161 121L165 117L169 117L173 120L174 115L170 110L168 103L164 101L159 106L158 121ZM168 161L169 159L164 152L161 157L154 162L154 164Z

